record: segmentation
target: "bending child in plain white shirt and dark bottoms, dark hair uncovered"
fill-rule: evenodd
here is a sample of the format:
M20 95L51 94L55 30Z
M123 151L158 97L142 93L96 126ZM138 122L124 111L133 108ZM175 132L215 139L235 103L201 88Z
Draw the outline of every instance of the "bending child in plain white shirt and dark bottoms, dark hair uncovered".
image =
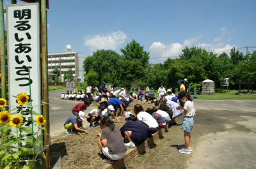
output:
M152 134L156 133L158 130L158 123L156 119L154 119L154 117L147 112L144 112L143 107L139 104L134 106L133 111L147 129L148 138L152 138Z

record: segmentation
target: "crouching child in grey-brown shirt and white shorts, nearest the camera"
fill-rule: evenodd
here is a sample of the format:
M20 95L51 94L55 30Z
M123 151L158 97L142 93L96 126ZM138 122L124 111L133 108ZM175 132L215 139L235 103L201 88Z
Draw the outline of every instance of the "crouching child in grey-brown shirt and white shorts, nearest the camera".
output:
M127 148L115 122L111 121L109 117L104 117L100 121L100 128L102 129L101 134L97 133L96 135L100 137L98 139L99 149L106 156L102 161L111 164L114 162L113 160L124 158Z

